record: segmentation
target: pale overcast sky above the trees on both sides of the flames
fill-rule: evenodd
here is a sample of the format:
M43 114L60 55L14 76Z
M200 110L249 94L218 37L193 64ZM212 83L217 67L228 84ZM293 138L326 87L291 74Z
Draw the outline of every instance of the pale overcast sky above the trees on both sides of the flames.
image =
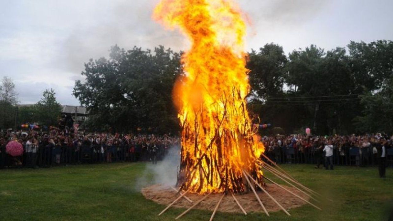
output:
M64 105L83 64L129 49L187 42L151 19L158 0L0 0L0 77L11 77L22 104L53 88ZM246 50L274 42L286 53L310 44L330 50L349 41L393 40L392 0L237 0L248 14Z

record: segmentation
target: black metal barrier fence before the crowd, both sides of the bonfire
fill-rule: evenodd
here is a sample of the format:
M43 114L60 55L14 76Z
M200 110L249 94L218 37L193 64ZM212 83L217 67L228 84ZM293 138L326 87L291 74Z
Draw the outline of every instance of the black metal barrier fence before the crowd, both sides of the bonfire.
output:
M0 168L50 167L66 164L97 164L111 162L137 162L162 160L168 152L163 146L155 152L141 146L40 146L25 145L24 154L16 159L6 154L5 147L0 147ZM324 162L325 154L312 148L294 148L290 146L268 148L266 156L278 164L317 164L318 159ZM373 147L334 147L333 164L340 166L376 166L378 155ZM393 167L393 148L386 150L387 166Z

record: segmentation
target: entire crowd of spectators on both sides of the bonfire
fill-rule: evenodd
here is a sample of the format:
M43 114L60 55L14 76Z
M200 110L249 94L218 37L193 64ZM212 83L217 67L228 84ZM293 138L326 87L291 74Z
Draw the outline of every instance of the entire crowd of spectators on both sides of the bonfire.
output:
M180 146L180 138L169 135L75 132L67 127L51 127L46 133L33 130L2 133L0 168L112 161L156 163L168 153L169 148ZM10 141L22 144L24 154L16 157L7 155L5 149ZM265 155L276 163L315 164L316 168L333 169L333 164L386 165L386 159L393 158L393 148L390 148L393 136L380 133L364 136L263 136L261 142L266 147ZM384 158L381 158L382 155ZM383 171L380 171L380 176L384 176Z

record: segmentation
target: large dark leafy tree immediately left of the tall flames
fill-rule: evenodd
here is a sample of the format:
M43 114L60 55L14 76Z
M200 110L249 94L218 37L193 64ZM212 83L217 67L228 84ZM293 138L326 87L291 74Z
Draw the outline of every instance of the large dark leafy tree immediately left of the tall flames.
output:
M172 88L180 72L180 54L163 46L154 52L113 46L109 59L85 64L86 80L75 82L73 95L87 107L91 129L169 133L178 129Z

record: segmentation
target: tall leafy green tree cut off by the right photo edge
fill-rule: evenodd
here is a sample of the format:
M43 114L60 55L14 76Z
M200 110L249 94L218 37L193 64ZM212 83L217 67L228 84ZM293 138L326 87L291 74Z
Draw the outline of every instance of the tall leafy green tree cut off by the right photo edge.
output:
M393 41L351 42L348 45L359 90L364 90L354 119L357 132L393 132Z

